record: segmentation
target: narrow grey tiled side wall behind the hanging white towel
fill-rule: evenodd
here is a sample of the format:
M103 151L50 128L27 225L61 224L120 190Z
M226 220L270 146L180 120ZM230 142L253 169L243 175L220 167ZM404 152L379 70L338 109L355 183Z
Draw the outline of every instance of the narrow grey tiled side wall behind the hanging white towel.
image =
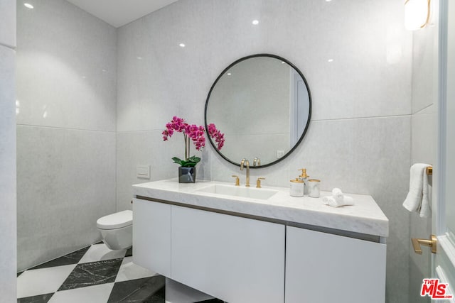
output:
M412 145L411 162L437 162L437 82L438 26L427 26L413 34L412 60ZM433 184L430 177L430 184ZM427 238L432 233L432 219L410 217L410 238ZM422 279L432 275L429 250L414 253L410 241L410 302L430 302L420 297Z

